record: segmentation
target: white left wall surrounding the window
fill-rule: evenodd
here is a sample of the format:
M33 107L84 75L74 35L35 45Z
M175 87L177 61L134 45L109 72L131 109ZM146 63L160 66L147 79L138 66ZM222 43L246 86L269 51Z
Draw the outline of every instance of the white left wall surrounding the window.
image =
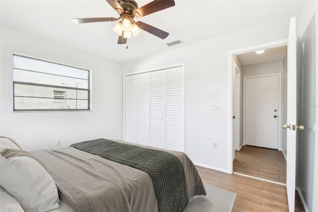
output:
M1 135L26 151L122 138L121 64L1 25ZM92 70L92 111L13 112L12 53Z

